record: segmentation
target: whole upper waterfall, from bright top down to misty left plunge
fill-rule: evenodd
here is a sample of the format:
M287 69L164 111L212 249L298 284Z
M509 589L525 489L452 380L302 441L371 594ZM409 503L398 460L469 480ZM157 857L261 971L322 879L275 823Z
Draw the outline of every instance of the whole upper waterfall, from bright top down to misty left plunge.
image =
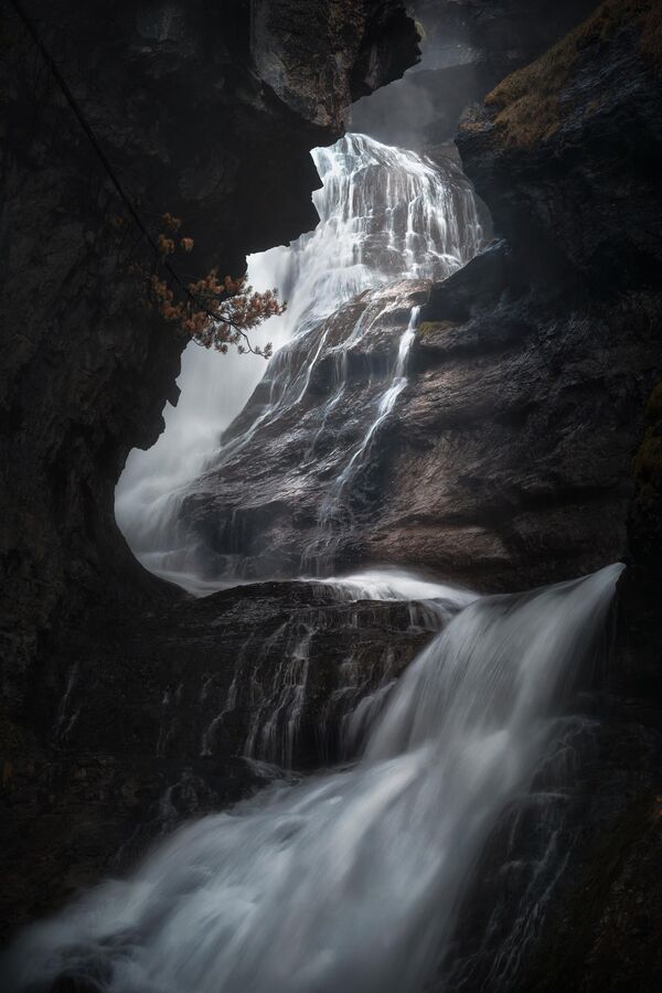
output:
M403 278L444 279L482 244L472 189L450 160L435 163L364 135L348 135L311 154L322 183L313 193L320 223L289 247L248 259L249 281L257 289L277 286L288 301L287 312L264 329L275 344L274 359L265 372L254 356L221 356L191 344L179 405L167 407L157 445L131 452L117 488L117 521L137 557L196 591L209 587L199 576L194 540L179 520L190 483L236 457L284 407L301 403L329 344L318 329L343 303ZM338 394L320 408L316 438L344 388L348 350L370 331L383 306L367 307L335 349ZM391 406L402 388L396 388L397 367L393 375ZM242 415L256 387L260 403ZM308 455L313 453L314 439Z

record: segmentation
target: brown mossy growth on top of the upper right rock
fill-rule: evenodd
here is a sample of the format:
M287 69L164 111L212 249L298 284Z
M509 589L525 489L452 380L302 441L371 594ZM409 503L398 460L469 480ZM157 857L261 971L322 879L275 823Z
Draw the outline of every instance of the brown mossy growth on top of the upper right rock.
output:
M642 54L655 70L662 70L659 0L605 0L583 24L531 65L506 76L488 95L485 105L495 111L499 140L526 148L554 135L563 120L563 89L583 51L606 44L628 25L640 32Z

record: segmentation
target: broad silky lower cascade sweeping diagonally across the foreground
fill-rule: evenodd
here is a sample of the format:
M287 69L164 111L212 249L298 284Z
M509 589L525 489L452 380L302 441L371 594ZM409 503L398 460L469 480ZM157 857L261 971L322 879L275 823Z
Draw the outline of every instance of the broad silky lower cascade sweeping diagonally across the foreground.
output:
M554 744L620 569L469 604L401 679L355 766L183 828L130 878L26 931L4 989L420 991L490 829Z

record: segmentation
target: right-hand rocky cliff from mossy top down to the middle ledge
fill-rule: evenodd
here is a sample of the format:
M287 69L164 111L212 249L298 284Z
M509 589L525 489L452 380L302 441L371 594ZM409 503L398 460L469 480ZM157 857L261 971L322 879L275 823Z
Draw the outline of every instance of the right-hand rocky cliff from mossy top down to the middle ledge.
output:
M363 296L320 325L301 402L184 501L211 574L297 574L322 543L323 568L425 565L495 591L627 555L632 459L662 364L660 88L642 9L607 4L467 120L465 168L506 239L442 282ZM414 303L407 385L324 512ZM263 406L258 387L228 437Z

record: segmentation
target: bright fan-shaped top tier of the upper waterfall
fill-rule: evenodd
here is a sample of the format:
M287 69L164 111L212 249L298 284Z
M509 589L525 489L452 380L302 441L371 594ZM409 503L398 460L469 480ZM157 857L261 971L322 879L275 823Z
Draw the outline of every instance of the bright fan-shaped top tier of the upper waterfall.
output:
M292 329L398 278L442 279L476 254L476 202L449 160L435 163L365 135L346 135L312 158L322 182L312 196L318 227L249 265L252 278L268 274L282 288Z

